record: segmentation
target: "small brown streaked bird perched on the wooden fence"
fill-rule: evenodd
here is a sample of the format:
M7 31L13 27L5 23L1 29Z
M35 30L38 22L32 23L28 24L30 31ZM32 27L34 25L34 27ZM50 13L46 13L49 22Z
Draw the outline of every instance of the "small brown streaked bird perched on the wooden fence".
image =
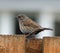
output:
M44 30L53 30L51 28L41 27L39 24L37 24L24 14L19 14L17 18L21 32L24 34L28 34L26 38L35 37L36 34Z

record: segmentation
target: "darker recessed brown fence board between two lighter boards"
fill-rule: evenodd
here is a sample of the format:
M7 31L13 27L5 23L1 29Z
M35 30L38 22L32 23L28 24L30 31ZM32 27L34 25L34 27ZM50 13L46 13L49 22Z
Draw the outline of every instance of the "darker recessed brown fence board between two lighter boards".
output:
M31 39L26 43L26 53L42 53L42 39Z

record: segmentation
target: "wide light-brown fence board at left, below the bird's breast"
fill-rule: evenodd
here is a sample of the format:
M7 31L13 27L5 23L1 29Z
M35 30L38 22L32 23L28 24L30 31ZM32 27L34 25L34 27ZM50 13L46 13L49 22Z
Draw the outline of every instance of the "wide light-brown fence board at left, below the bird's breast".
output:
M25 53L25 36L0 35L0 53Z

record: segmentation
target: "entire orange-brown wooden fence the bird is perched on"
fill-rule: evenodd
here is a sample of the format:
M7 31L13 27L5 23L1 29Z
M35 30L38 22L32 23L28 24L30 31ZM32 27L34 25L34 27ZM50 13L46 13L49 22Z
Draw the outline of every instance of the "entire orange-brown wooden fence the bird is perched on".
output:
M24 35L0 35L0 53L60 53L60 37L25 40Z

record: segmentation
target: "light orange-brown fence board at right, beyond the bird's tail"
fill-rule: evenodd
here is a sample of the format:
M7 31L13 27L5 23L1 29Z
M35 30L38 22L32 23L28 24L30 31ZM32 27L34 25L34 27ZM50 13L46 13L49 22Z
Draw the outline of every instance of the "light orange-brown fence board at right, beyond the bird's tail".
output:
M46 37L43 44L43 53L60 53L60 37Z

